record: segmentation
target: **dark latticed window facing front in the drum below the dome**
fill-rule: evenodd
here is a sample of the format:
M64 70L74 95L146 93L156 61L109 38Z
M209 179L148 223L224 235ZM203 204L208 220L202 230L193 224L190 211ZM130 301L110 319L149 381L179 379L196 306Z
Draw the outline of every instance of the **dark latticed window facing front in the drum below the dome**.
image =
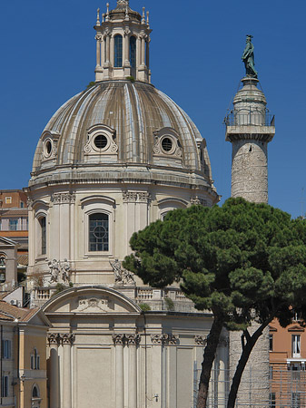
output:
M108 251L109 219L108 215L96 212L89 216L89 250Z

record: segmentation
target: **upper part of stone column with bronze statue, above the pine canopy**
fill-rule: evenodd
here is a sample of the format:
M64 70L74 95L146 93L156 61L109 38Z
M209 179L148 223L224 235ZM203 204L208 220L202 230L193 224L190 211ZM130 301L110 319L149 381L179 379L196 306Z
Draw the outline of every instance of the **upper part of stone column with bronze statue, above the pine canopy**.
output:
M226 141L232 143L232 197L268 203L268 143L275 133L254 68L252 35L247 35L242 54L246 74L242 89L225 118Z

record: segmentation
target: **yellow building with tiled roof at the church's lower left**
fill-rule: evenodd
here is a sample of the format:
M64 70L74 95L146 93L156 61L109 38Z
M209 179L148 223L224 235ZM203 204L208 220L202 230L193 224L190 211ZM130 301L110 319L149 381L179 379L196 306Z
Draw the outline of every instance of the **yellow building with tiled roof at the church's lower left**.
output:
M47 408L46 332L38 309L0 301L0 407Z

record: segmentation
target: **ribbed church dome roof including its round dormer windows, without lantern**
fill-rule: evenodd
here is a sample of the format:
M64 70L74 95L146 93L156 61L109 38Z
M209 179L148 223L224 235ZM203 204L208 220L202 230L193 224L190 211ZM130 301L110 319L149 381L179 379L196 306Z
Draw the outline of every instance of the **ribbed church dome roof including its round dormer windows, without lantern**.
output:
M129 80L95 83L54 113L30 184L54 178L54 169L110 171L123 164L195 171L212 186L206 143L189 116L152 84Z

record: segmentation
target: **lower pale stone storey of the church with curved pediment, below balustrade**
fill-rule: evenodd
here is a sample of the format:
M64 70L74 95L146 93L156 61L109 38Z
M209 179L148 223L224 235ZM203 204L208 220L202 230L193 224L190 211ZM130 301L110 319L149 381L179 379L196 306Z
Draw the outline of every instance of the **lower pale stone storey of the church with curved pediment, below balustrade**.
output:
M143 314L128 297L106 287L67 289L43 309L52 323L51 407L103 401L114 408L185 408L195 403L194 367L202 363L210 314ZM226 360L226 345L221 345L218 364L226 367Z

